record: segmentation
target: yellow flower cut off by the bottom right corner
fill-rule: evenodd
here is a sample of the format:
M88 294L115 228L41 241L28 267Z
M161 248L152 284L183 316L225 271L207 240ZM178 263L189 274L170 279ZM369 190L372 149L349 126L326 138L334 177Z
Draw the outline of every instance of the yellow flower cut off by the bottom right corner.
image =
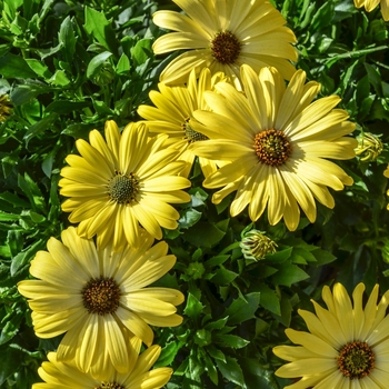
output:
M389 382L389 303L387 291L377 305L378 285L363 309L365 285L352 293L353 303L341 283L333 292L322 290L328 309L312 301L316 315L299 310L308 330L287 329L288 338L300 346L277 346L273 352L290 363L276 371L283 378L301 378L285 389L383 389Z

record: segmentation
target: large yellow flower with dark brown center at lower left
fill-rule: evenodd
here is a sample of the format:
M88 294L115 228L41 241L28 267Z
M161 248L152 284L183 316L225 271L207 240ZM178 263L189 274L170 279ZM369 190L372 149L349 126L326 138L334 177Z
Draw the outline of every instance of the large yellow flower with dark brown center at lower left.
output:
M59 361L76 360L93 377L110 372L110 366L127 372L131 360L129 339L134 335L151 346L149 325L178 326L176 306L180 291L146 288L176 263L163 241L140 232L139 248L113 252L112 246L97 249L93 240L78 236L74 227L61 233L62 242L48 241L39 251L30 273L38 278L19 282L32 310L33 328L40 338L66 333L57 352Z

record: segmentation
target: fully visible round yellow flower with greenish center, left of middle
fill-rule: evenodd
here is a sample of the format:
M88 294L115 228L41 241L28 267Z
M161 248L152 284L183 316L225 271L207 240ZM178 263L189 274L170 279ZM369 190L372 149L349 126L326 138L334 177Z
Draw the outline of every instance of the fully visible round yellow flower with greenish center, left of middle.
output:
M60 193L70 197L62 210L80 222L78 232L98 236L98 246L113 241L114 249L139 242L139 223L156 239L161 227L177 228L178 211L168 202L190 201L181 189L190 181L177 177L184 163L176 161L173 148L162 147L167 136L148 138L143 123L130 123L120 134L114 121L106 123L106 139L99 131L89 134L90 144L76 142L80 156L67 157L61 170Z

